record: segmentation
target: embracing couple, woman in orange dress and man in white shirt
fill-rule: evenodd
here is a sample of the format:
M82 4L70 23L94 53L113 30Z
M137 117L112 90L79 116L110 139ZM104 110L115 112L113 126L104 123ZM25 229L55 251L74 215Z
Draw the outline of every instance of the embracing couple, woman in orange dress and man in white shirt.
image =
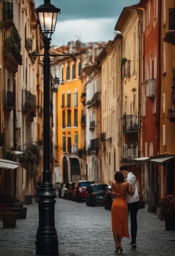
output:
M114 201L111 208L111 219L116 252L123 252L121 239L130 238L128 232L128 214L131 216L131 246L136 248L138 190L135 175L123 164L114 175L112 183ZM125 181L126 180L126 181Z

